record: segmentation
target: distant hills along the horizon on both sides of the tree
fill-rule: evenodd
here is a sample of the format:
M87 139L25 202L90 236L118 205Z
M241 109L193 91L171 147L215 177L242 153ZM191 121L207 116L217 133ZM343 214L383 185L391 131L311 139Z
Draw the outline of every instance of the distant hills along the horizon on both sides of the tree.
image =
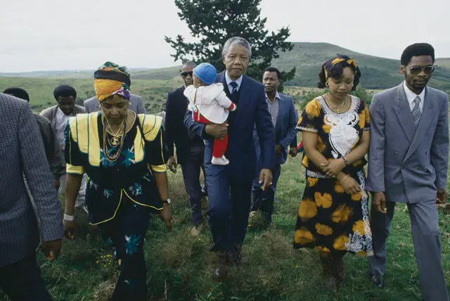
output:
M404 77L399 74L399 60L380 58L357 53L328 43L295 42L292 51L280 53L280 58L272 65L281 70L297 68L295 78L287 85L300 87L316 87L321 65L337 53L347 54L358 63L361 69L361 86L366 89L386 89L399 84ZM435 71L430 86L450 91L450 58L437 58ZM160 69L131 69L131 79L158 79L163 81L179 80L180 66ZM46 77L53 79L91 79L94 70L81 71L41 71L0 73L0 77Z

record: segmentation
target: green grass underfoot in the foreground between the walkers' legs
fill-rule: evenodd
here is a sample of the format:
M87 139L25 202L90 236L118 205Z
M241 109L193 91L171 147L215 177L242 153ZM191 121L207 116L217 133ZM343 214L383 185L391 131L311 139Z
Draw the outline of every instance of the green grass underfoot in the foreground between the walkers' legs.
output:
M304 189L300 158L289 158L278 181L274 228L250 229L243 248L243 267L233 269L225 283L212 281L210 232L190 235L188 200L181 173L169 174L174 229L168 232L153 217L144 246L148 269L148 300L420 300L418 271L410 233L409 214L398 205L387 242L385 288L371 284L364 257L347 255L347 279L338 293L326 292L314 251L293 250L293 232ZM442 262L450 284L450 212L439 212ZM79 221L75 241L63 241L57 262L39 255L53 300L108 300L115 285L114 265L102 256L111 250L94 227ZM1 295L0 295L1 300Z

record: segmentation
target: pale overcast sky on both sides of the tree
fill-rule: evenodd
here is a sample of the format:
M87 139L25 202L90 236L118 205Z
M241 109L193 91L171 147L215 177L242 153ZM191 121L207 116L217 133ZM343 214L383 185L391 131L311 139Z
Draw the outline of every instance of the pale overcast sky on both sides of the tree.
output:
M189 37L172 0L0 0L0 72L176 65L164 36ZM426 41L450 57L449 0L263 0L266 27L290 41L328 42L399 58Z

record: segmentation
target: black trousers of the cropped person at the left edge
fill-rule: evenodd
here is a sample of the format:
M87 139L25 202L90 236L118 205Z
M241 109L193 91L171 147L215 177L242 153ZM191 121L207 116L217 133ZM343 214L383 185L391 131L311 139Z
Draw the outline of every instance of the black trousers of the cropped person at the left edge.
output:
M0 290L3 290L11 301L52 300L42 281L35 254L6 267L0 267Z

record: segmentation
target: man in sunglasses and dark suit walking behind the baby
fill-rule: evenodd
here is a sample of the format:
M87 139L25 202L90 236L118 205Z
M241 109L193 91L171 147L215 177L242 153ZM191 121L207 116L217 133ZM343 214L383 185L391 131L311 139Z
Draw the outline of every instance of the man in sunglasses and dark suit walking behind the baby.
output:
M167 167L176 173L177 163L181 165L184 186L189 196L191 206L191 219L194 236L198 236L205 229L201 208L202 186L200 186L200 170L205 168L203 158L205 156L205 143L200 136L195 135L184 127L184 115L188 110L188 98L184 96L184 89L193 84L193 69L197 65L186 62L181 68L181 79L184 86L172 91L167 96L165 143L168 151ZM174 156L174 144L176 146L176 158ZM178 162L177 162L178 161Z

